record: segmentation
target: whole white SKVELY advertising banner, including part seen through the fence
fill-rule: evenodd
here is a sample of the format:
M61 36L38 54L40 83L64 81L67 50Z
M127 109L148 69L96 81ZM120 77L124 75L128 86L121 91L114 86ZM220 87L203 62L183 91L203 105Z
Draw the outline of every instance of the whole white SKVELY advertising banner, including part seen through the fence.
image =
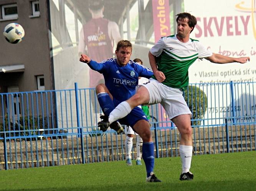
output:
M250 62L245 64L215 64L198 59L190 66L190 83L205 84L200 87L208 97L205 118L213 119L206 121L206 124L213 124L218 118L255 113L255 87L251 83L256 80L255 1L184 0L184 10L197 18L190 38L199 40L214 53L228 57L250 57ZM229 84L230 81L235 85ZM236 83L240 82L242 84L238 86ZM226 85L218 89L216 84L219 83Z

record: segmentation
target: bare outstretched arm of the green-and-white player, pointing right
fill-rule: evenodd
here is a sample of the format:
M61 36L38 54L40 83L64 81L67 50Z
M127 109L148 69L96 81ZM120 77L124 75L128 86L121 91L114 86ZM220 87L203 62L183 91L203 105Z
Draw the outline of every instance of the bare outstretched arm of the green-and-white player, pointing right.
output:
M232 63L232 62L238 62L238 63L246 63L247 61L250 61L250 57L239 57L239 58L232 58L232 57L226 57L221 54L213 53L210 57L206 57L206 60L209 60L213 63L218 64L225 64L225 63Z

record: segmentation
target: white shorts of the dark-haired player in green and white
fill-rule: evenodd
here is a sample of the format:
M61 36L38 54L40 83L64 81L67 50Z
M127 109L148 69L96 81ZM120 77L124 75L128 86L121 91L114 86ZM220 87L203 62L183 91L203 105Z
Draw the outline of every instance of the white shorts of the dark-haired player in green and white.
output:
M166 86L153 78L141 85L149 91L149 105L160 103L170 120L182 114L192 115L180 89Z

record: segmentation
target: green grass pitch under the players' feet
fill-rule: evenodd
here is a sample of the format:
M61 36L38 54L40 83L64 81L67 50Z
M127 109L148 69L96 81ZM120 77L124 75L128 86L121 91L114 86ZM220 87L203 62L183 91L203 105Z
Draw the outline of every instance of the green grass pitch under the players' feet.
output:
M256 190L256 151L197 155L193 181L180 181L180 157L155 159L161 183L145 182L145 165L125 161L0 171L0 190Z

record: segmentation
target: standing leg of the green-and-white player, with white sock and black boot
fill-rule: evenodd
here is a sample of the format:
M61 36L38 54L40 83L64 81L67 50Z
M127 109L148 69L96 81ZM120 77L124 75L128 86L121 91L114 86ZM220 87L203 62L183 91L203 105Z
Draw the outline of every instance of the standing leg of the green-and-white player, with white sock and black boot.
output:
M182 161L182 172L180 180L193 180L193 174L189 171L192 159L192 127L190 125L190 115L178 115L172 119L173 123L177 126L181 139L180 139L180 158Z

